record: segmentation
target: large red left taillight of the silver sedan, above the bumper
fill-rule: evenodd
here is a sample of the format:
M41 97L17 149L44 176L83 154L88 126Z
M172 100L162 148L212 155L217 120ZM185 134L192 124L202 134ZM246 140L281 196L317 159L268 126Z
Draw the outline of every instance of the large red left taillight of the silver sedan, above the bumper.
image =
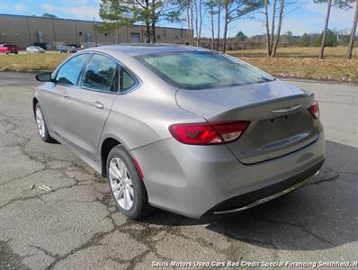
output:
M224 144L238 139L249 121L215 121L206 123L180 123L169 127L173 137L185 144Z

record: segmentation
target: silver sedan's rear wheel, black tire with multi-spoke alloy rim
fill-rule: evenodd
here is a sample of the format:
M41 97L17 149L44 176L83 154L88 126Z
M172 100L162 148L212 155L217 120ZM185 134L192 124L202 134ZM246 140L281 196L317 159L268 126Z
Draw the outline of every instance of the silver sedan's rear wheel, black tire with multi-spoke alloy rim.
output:
M132 220L146 217L153 208L148 202L148 193L139 168L127 150L121 145L112 148L107 158L106 169L117 209Z

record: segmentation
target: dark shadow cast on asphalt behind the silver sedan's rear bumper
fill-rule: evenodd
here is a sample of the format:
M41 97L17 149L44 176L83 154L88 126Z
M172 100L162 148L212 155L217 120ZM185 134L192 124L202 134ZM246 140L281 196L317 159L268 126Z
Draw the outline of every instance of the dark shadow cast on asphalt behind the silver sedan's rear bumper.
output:
M327 159L306 186L231 216L194 220L156 211L144 223L200 225L256 246L316 250L358 239L358 148L327 141Z

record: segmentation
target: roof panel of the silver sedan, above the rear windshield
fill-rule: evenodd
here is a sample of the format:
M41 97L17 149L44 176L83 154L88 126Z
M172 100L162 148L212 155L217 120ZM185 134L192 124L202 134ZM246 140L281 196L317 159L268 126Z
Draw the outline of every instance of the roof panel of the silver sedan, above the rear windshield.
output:
M94 48L91 48L94 49ZM131 57L139 55L148 55L162 52L178 52L178 51L209 51L198 47L175 45L175 44L120 44L96 47L94 50L103 52L122 52Z

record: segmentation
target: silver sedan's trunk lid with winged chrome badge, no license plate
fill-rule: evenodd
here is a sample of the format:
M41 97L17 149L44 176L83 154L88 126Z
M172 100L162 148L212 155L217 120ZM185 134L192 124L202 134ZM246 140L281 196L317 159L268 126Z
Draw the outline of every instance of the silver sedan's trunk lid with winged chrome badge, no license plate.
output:
M309 112L314 95L278 80L206 90L178 90L184 110L207 121L250 121L245 133L227 147L243 164L282 157L318 139Z

